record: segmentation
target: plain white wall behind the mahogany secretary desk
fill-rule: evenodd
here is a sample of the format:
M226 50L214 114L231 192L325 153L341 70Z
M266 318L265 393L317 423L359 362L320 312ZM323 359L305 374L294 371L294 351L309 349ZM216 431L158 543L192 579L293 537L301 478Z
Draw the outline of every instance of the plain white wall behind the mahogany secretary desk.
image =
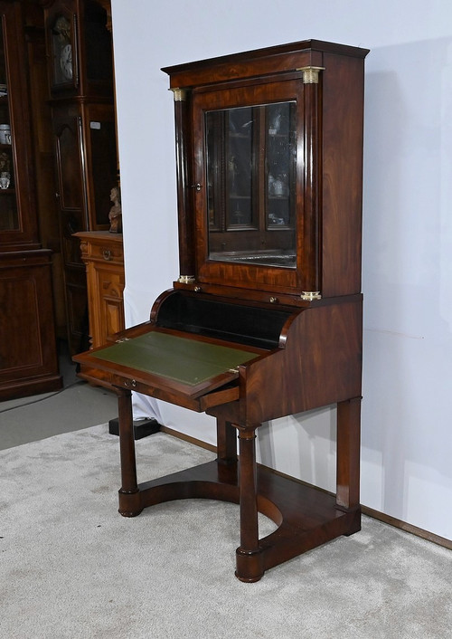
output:
M127 324L178 276L173 97L159 69L316 38L366 60L363 504L452 539L449 0L112 0ZM214 442L213 421L137 415ZM260 458L334 489L334 409L259 429ZM448 504L448 506L447 506Z

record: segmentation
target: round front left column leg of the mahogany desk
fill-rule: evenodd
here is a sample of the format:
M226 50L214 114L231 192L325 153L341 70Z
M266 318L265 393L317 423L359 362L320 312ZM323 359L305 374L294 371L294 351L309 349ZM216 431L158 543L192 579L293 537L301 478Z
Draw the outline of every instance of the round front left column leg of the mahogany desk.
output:
M119 512L124 517L135 517L140 506L137 485L137 463L132 416L132 394L121 390L118 395L119 450L121 457L121 488L119 490Z

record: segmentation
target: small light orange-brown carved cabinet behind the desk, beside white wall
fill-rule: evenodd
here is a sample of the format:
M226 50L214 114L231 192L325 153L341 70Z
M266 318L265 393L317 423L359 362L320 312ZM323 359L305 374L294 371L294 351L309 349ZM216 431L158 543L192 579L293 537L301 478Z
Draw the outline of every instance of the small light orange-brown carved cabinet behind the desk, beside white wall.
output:
M115 342L124 330L124 258L122 235L102 231L78 233L86 264L91 348Z

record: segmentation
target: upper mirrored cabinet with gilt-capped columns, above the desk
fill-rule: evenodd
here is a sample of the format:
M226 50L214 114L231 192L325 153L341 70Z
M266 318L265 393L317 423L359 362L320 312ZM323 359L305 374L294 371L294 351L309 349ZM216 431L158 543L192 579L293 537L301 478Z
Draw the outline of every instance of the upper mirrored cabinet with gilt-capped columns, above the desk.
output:
M177 287L296 305L361 291L366 54L306 40L164 69Z

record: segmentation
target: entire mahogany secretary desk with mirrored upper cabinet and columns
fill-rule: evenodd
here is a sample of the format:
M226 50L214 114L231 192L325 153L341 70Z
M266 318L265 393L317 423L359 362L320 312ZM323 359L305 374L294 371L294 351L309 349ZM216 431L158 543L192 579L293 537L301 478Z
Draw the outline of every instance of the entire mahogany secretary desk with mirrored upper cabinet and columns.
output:
M119 511L240 503L242 581L361 527L366 54L310 40L164 69L180 277L149 322L76 357L82 377L118 392ZM138 484L132 390L216 417L218 459ZM258 467L261 424L333 404L335 495ZM263 539L258 511L278 525Z

